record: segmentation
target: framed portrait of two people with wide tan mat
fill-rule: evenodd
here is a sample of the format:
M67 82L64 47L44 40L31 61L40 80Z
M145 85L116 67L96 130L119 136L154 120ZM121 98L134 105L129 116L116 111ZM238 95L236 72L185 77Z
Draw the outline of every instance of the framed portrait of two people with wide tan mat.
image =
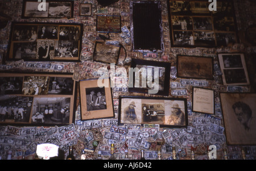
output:
M79 82L81 120L113 118L114 107L109 78Z

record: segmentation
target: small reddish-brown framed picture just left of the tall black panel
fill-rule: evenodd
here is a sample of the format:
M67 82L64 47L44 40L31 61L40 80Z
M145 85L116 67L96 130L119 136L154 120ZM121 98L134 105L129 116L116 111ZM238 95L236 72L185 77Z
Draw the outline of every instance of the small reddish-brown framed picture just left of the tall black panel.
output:
M121 32L121 15L97 15L97 32Z

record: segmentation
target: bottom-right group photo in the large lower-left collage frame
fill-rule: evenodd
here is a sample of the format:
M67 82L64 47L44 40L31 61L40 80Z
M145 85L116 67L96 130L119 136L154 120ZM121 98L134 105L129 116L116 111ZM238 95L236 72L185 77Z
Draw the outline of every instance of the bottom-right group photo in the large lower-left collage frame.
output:
M34 98L31 123L69 123L71 98L40 97Z

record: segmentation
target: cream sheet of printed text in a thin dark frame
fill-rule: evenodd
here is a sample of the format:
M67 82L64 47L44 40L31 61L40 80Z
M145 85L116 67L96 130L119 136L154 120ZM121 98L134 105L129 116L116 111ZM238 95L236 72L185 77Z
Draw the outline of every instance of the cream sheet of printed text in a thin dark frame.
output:
M193 87L192 111L214 115L214 90Z

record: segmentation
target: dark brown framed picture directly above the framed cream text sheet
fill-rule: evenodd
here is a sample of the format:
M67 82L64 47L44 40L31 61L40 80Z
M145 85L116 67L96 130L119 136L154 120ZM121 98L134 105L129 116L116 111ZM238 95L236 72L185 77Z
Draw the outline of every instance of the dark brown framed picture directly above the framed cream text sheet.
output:
M177 55L177 77L213 80L213 57Z

